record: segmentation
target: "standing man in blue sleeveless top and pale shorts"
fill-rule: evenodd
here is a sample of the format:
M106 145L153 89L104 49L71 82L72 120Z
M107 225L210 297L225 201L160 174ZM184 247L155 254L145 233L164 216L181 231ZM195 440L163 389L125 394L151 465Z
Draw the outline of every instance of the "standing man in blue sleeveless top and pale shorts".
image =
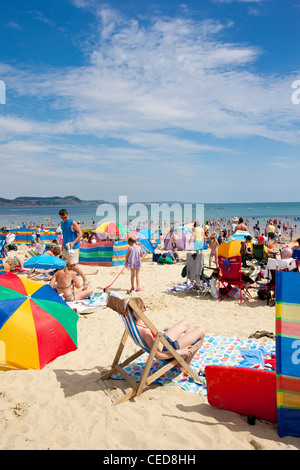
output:
M61 209L59 211L59 216L62 220L61 229L63 234L62 259L67 263L70 269L82 277L83 287L86 288L88 285L87 278L78 266L80 248L79 241L82 238L81 228L75 220L70 219L69 213L66 209Z

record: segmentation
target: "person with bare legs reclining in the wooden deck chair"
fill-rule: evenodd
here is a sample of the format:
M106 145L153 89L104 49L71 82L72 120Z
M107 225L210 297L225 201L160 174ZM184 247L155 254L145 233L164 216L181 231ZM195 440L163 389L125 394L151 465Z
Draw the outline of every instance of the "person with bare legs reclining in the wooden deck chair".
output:
M141 298L137 297L134 299L136 304L139 306L141 310L144 312L146 311L146 307L144 302L142 301ZM152 331L149 329L145 323L136 316L135 312L133 312L134 317L136 319L136 326L139 330L139 333L141 335L141 338L145 342L145 344L148 346L148 348L151 350L155 336L152 333ZM194 330L191 330L187 333L189 330L190 326L189 323L186 320L182 320L179 323L176 323L176 325L172 326L167 330L167 334L164 333L164 337L166 340L173 346L173 348L177 351L177 353L180 356L183 356L185 358L185 362L187 364L190 364L195 352L192 353L190 351L190 348L193 346L194 343L197 341L203 341L204 336L205 336L205 331L201 327L197 327ZM158 351L156 353L156 359L161 359L161 360L167 360L167 359L172 359L173 356L167 349L160 344L158 347ZM183 368L178 367L181 372L183 372Z

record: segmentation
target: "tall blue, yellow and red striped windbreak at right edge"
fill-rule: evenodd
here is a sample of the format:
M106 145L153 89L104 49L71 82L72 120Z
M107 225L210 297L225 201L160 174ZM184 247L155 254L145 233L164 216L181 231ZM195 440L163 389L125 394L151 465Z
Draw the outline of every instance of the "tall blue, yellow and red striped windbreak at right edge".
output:
M278 434L300 437L300 273L276 271Z

